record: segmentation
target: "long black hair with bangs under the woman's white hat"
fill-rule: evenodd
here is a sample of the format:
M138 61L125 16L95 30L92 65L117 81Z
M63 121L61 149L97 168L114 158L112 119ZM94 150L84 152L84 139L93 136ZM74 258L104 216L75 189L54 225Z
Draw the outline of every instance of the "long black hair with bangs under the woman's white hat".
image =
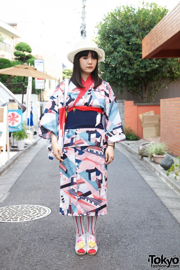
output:
M76 55L74 56L73 73L70 79L73 82L73 84L75 84L77 87L85 88L81 82L81 68L80 68L79 59L83 56L87 57L89 52L91 53L91 57L97 59L95 70L93 70L93 72L91 73L91 78L94 80L94 83L95 83L94 88L97 88L103 81L98 75L98 53L91 50L85 50L85 51L76 53Z

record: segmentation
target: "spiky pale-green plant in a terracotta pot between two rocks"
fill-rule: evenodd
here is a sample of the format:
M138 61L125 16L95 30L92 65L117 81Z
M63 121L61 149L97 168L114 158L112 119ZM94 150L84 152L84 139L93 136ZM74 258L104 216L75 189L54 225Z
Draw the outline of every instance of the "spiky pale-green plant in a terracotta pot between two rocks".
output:
M168 151L167 144L166 143L158 143L158 142L150 144L146 149L146 152L147 152L149 158L150 159L153 158L153 160L158 164L166 156L167 151Z

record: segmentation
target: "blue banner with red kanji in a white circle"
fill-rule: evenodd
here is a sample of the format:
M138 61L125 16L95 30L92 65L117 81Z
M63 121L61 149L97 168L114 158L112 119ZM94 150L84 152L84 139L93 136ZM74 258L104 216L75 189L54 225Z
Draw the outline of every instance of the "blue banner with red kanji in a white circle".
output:
M22 110L8 110L9 132L22 130Z

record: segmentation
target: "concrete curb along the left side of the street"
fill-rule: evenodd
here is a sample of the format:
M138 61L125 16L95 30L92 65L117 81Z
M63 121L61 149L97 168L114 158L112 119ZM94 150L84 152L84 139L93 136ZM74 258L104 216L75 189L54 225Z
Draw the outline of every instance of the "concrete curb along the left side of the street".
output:
M0 177L19 159L21 158L24 154L26 154L26 152L28 152L33 146L35 146L35 144L40 140L41 138L38 137L37 139L35 139L35 141L32 144L29 144L26 146L26 148L24 150L19 150L17 152L16 155L14 155L10 161L7 161L5 163L5 165L2 165L0 167Z

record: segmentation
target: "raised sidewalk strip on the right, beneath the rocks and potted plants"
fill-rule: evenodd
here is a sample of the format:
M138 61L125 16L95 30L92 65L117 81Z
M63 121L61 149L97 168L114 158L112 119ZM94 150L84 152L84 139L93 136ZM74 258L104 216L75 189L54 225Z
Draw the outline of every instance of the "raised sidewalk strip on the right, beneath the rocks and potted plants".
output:
M141 140L143 143L143 140ZM146 141L144 141L146 142ZM167 171L164 170L159 164L151 161L150 158L141 157L138 154L138 147L140 145L140 141L124 141L121 142L121 146L123 146L126 150L134 154L140 160L142 160L153 172L155 172L158 176L160 176L164 182L170 185L171 188L176 190L180 194L180 182L175 180L172 176L167 176ZM172 157L175 159L174 157Z

